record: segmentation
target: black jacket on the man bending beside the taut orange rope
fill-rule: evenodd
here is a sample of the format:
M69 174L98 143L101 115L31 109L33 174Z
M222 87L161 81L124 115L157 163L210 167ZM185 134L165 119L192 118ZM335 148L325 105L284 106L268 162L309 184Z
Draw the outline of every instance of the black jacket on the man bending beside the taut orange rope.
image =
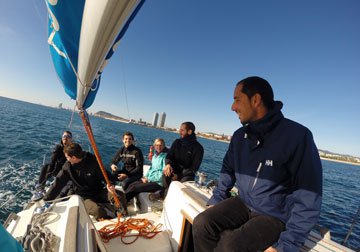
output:
M112 175L108 173L109 179L114 180ZM101 173L99 164L95 156L89 152L85 152L84 158L80 163L71 165L67 161L63 169L55 178L44 200L52 200L61 192L62 188L68 181L72 181L75 194L83 198L91 198L104 189L104 176Z

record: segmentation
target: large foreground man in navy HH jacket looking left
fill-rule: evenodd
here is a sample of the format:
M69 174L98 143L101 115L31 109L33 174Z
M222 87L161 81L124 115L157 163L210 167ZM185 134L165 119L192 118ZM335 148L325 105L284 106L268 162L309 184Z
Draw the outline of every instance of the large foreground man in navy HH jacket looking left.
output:
M299 251L316 224L322 166L312 133L284 118L270 84L248 77L231 109L230 142L211 206L193 223L195 251ZM230 197L235 186L238 196Z

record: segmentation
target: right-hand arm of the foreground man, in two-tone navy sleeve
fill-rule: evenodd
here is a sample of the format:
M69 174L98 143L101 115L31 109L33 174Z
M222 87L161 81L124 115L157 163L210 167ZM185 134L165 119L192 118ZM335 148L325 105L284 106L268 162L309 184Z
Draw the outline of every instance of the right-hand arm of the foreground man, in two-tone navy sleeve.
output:
M312 134L307 131L289 164L295 190L287 197L290 218L286 230L272 247L297 251L317 223L322 201L322 166Z

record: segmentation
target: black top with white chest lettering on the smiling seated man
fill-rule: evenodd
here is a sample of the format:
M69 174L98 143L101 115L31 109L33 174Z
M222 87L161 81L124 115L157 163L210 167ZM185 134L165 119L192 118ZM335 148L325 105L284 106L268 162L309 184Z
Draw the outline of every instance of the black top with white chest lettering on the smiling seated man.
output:
M111 164L117 165L120 161L124 163L124 166L118 173L125 173L129 177L143 176L144 156L141 150L135 145L130 145L128 148L123 146L115 154Z

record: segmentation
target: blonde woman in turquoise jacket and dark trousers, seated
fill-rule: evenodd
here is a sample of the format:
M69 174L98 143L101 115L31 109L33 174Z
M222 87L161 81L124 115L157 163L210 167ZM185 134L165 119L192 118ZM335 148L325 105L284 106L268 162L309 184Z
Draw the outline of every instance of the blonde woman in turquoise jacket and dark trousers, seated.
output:
M151 159L151 166L148 172L140 180L132 183L125 191L126 200L130 201L141 192L162 191L162 173L165 167L165 158L168 149L162 138L154 141L155 153Z

